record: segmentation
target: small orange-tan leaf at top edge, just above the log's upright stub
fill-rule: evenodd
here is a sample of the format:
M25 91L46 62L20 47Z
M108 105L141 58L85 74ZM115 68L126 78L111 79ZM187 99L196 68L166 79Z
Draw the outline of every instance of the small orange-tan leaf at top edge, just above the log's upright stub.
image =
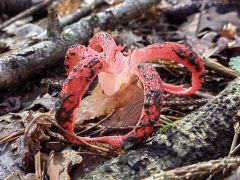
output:
M60 17L76 11L81 4L81 0L60 0L57 6Z

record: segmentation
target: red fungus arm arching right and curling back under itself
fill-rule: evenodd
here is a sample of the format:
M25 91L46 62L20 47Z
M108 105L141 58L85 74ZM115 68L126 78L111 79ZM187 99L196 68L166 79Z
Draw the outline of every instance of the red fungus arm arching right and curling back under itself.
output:
M165 91L176 95L190 95L201 87L205 73L203 60L193 51L177 43L154 44L136 49L131 54L130 64L158 62L159 60L176 61L183 64L192 73L192 87L185 89L183 86L163 83Z

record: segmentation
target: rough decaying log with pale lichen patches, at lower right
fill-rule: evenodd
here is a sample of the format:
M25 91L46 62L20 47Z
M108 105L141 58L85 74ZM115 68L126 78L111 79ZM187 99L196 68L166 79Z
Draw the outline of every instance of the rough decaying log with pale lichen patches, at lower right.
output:
M83 179L142 179L176 167L224 157L229 153L240 78L198 111L179 120L166 134L127 151L86 174Z

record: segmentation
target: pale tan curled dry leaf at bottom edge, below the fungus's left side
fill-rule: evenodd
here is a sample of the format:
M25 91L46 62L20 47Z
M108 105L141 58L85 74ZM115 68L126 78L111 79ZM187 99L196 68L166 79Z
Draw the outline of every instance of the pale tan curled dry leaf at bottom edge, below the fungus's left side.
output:
M62 152L53 152L50 155L47 173L50 179L71 179L68 172L72 166L82 162L82 156L78 152L65 149Z

